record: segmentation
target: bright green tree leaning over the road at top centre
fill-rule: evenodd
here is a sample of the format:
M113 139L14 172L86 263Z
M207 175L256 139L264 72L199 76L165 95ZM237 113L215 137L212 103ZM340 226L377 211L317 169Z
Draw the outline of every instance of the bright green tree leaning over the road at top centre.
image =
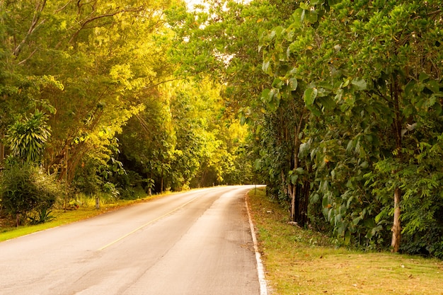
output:
M263 59L257 51L260 45L257 36L287 20L290 12L297 8L298 4L287 1L251 1L249 4L208 1L207 4L209 8L199 6L189 13L185 12L184 7L168 11L169 23L177 33L177 45L173 47L172 53L181 64L180 74L209 75L222 83L225 113L231 114L231 117L240 117L243 124L250 123L254 133L251 137L255 141L253 144L262 144L258 140L261 127L275 122L265 120L263 114L269 111L272 117L284 112L276 112L279 103L277 97L280 100L280 96L273 96L273 92L270 91L262 96L263 90L272 86L273 79L267 76L269 68L266 69L266 65L261 66ZM265 69L265 72L262 69ZM281 81L280 88L284 82ZM292 87L294 90L297 88L295 85ZM301 122L300 129L303 129L301 117L296 119L296 125ZM279 119L276 121L281 122ZM287 128L291 129L292 139L298 138L292 136L292 126ZM292 140L289 137L287 139ZM288 170L285 169L294 165L294 161L291 156L288 161L288 165L277 168L277 173L279 177L280 172L283 173L282 183L285 187L292 187L290 180L287 181ZM265 165L266 162L263 159L260 163ZM274 167L272 170L263 166L262 168L275 171ZM284 192L289 194L287 188ZM291 188L290 192L294 190Z

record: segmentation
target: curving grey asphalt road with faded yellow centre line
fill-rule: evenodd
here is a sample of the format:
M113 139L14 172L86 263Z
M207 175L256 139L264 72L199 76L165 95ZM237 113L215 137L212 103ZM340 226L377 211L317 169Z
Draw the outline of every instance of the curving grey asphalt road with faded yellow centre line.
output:
M251 188L169 195L0 243L0 294L259 295Z

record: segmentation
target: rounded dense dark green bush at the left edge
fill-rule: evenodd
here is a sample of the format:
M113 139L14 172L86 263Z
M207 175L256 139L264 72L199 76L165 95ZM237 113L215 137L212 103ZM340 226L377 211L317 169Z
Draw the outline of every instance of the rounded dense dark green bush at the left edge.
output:
M63 194L62 186L53 175L33 165L8 166L0 176L1 207L4 212L21 221L42 220Z

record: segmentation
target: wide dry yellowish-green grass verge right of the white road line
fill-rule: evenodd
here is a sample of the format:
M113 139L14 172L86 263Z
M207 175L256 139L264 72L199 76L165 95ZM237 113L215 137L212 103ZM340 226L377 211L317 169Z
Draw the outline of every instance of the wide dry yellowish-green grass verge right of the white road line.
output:
M443 295L443 261L334 248L329 239L287 223L287 212L249 197L271 294Z

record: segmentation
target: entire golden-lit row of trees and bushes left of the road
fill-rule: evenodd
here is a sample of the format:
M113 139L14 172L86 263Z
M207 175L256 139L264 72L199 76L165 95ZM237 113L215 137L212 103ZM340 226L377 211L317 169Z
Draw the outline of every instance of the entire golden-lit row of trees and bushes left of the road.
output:
M246 127L217 81L168 52L177 1L0 1L2 215L54 204L253 181Z

